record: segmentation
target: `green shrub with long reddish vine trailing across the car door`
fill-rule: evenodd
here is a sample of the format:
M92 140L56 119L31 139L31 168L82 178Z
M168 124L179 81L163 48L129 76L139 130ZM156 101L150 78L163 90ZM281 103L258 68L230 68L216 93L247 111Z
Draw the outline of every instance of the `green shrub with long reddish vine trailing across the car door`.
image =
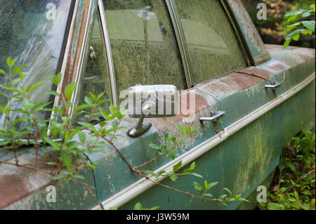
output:
M84 98L84 104L75 107L74 103L72 103L72 95L76 91L77 86L74 83L68 84L64 91L60 91L60 93L58 91L46 91L46 93L55 96L59 100L55 105L53 105L54 102L45 101L34 103L31 96L37 88L45 84L45 81L25 86L27 74L22 72L23 66L15 67L16 60L17 58L13 60L8 58L8 73L0 70L0 74L4 75L6 79L6 84L0 84L0 88L3 90L1 95L5 98L0 105L0 110L5 117L4 124L0 126L0 152L3 152L2 156L13 152L15 163L1 160L0 157L0 164L21 166L49 173L54 180L65 180L67 183L72 181L84 185L93 195L88 185L79 181L79 179L84 179L84 176L81 176L79 171L87 167L94 171L97 164L96 162L91 164L87 155L93 152L104 152L110 145L129 165L131 171L151 180L156 185L161 185L170 190L176 190L187 196L197 197L202 200L223 202L225 205L228 202L246 201L246 199L240 197L241 195L234 197L228 188L223 189L228 192L228 195L225 194L214 198L210 190L218 182L209 183L207 180L204 180L204 185L199 185L199 183L194 181L192 185L195 187L195 190L199 191L199 195L183 192L160 183L164 178L170 178L175 182L180 176L186 175L203 178L202 175L193 172L197 166L195 162L192 162L190 167L183 171L181 170L183 166L182 161L174 165L171 171L160 171L159 173L140 171L141 167L160 157L176 159L178 154L176 147L190 140L190 135L198 127L191 129L187 125L184 127L176 125L182 135L181 138L169 136L166 133L164 135L164 145L155 145L153 143L149 145L152 150L157 150L158 157L150 159L150 161L140 166L133 166L113 143L114 139L121 137L121 135L117 134L117 131L126 129L126 127L121 126L121 121L127 112L121 112L119 106L114 107L112 104L108 110L105 110L103 108L103 103L106 101L106 99L103 99L104 93L100 93L100 95L89 93L90 95ZM57 87L60 84L60 79L61 74L57 74L54 78L48 78L46 81L50 81ZM52 117L50 119L42 119L39 116L41 112L50 112ZM91 124L93 122L98 123L98 128ZM32 164L20 164L16 154L18 150L26 147L31 148L29 152L35 154L35 161ZM96 198L95 195L93 197ZM98 199L96 200L98 201ZM152 209L157 208L158 206ZM140 210L143 209L143 206L137 203L134 209Z

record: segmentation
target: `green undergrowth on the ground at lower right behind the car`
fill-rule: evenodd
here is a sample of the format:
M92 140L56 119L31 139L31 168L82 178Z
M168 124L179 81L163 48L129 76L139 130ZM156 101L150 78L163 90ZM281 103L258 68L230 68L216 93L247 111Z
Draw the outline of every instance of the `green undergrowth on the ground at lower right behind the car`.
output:
M280 180L261 209L315 210L315 126L291 139L279 164Z

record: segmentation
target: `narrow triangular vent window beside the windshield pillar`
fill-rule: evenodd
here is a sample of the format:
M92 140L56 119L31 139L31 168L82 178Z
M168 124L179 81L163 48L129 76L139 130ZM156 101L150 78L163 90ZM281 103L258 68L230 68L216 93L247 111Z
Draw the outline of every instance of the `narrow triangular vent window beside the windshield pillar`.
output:
M84 97L89 96L90 93L93 93L93 95L105 93L103 98L109 101L103 106L108 107L112 95L110 72L99 12L95 15L92 27L86 47L84 72L81 74L79 84L79 105L84 104Z

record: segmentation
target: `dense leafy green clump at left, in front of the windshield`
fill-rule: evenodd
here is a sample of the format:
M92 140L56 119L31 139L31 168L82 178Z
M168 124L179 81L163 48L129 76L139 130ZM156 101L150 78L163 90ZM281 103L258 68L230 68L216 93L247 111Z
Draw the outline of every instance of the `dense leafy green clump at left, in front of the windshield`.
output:
M90 96L86 96L85 104L79 105L74 113L70 114L70 108L74 106L74 103L71 102L76 89L74 83L65 87L65 93L46 91L60 100L60 104L53 108L48 107L53 102L32 102L32 93L44 82L25 86L24 81L27 75L21 71L22 66L14 66L16 59L8 58L8 74L4 70L0 70L1 75L8 80L8 84L0 85L0 88L4 90L1 95L6 98L0 106L1 112L6 117L3 126L0 126L0 150L4 154L13 151L15 165L19 166L16 151L24 146L32 147L30 151L35 152L36 159L34 164L28 168L50 166L53 169L51 174L55 180L65 179L69 182L73 179L83 179L84 177L78 174L79 167L87 166L95 169L96 166L96 163L91 164L84 155L98 152L100 148L106 147L105 142L101 140L101 134L117 138L115 132L124 128L119 124L125 114L119 112L119 107L114 108L113 105L110 106L110 111L100 107L105 102L102 99L103 93L98 96L92 93ZM61 74L57 74L54 79L48 78L47 81L58 86L60 77ZM39 112L42 111L52 112L53 118L40 119ZM18 116L12 117L13 114L18 114ZM100 129L96 130L88 122L77 121L78 116L86 117L88 122L100 121L102 118ZM48 126L48 124L50 125ZM87 135L89 135L88 139ZM37 163L39 152L46 158L44 164ZM55 157L48 157L51 152L55 154Z

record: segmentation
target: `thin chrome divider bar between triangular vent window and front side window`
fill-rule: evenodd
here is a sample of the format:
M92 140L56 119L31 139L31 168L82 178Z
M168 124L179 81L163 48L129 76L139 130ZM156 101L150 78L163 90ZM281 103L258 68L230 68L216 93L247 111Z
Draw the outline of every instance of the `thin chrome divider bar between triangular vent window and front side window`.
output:
M117 84L116 84L116 80L115 80L113 55L112 55L112 50L111 50L109 31L107 30L107 20L105 18L105 9L104 9L102 0L98 1L98 6L99 6L99 11L100 11L101 23L102 23L102 27L103 27L103 36L104 36L104 41L105 41L105 48L107 50L107 62L109 65L109 70L110 70L112 103L113 103L114 107L117 107L117 105L119 105L119 100L117 98Z

